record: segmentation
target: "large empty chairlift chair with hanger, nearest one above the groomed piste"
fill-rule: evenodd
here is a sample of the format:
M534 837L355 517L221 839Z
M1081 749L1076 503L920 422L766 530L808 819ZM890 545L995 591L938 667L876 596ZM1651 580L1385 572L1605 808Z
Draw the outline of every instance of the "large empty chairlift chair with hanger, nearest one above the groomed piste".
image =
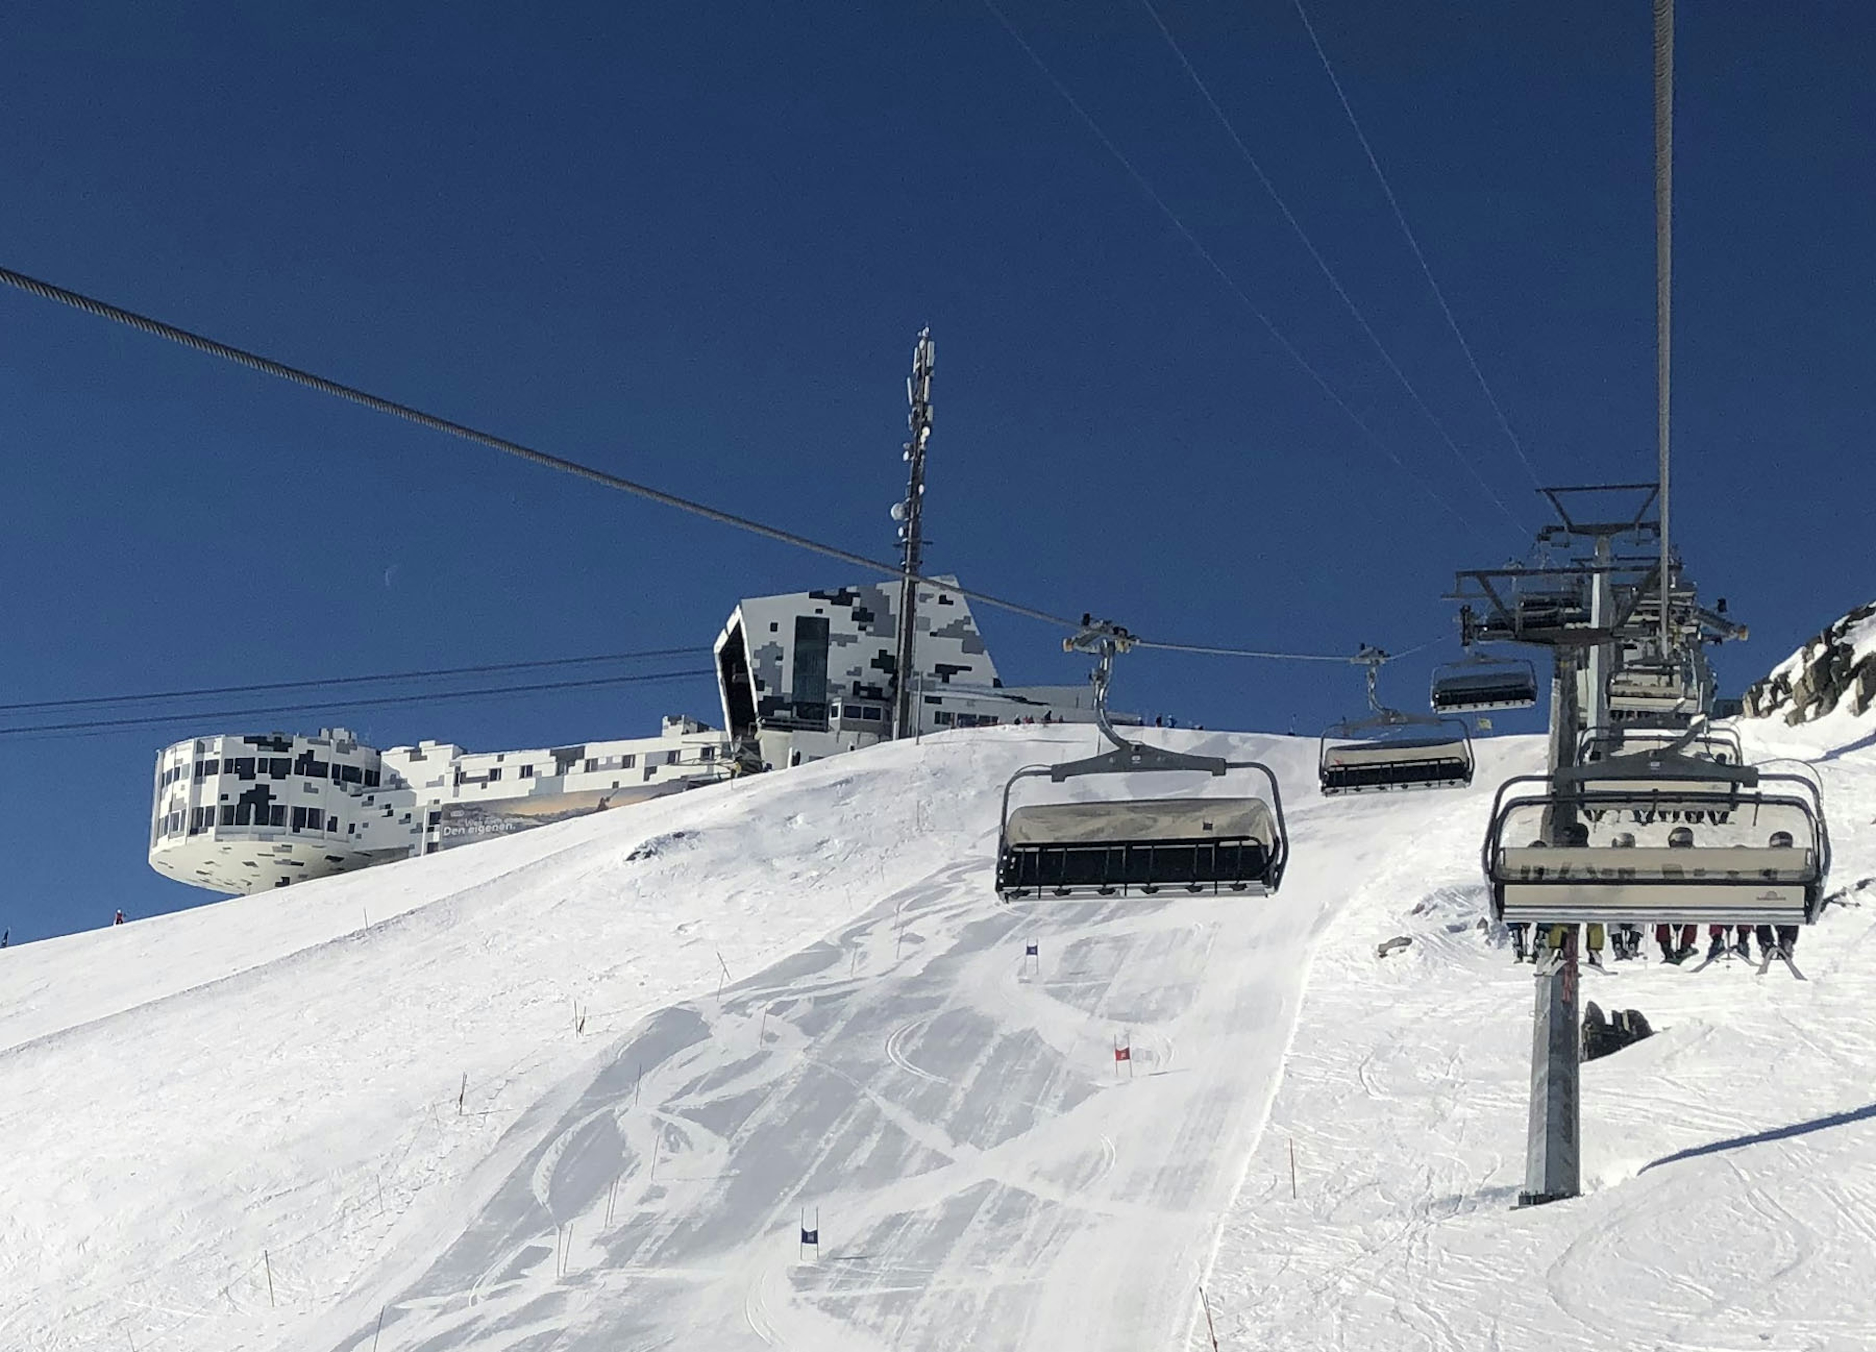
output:
M1103 621L1064 639L1064 647L1096 653L1099 658L1094 671L1094 714L1114 750L1060 765L1024 765L1009 776L996 844L996 894L1017 900L1133 893L1152 896L1161 891L1214 896L1276 893L1289 861L1289 833L1278 776L1270 767L1126 741L1107 718L1107 683L1114 654L1133 647L1133 638ZM1268 784L1268 795L1086 799L1009 806L1013 789L1026 778L1066 784L1167 771L1210 778L1251 771Z

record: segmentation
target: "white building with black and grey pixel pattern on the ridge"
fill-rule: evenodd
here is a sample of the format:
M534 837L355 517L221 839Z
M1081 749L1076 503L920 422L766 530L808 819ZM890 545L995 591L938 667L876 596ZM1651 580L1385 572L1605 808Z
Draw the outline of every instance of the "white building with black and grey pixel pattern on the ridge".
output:
M1094 720L1086 684L1004 686L970 604L938 581L917 596L915 731ZM715 643L724 731L668 716L657 737L514 752L379 752L341 728L174 743L156 761L150 866L257 893L889 741L897 608L897 581L743 600Z

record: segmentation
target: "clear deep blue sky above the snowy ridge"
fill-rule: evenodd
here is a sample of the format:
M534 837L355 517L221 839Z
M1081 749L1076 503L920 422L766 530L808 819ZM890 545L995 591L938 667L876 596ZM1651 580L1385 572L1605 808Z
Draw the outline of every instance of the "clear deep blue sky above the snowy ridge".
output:
M1452 570L1525 540L1148 11L1000 4L1405 473L983 4L15 9L0 263L869 553L891 549L902 377L930 324L932 568L1178 641L1450 632ZM1675 525L1703 593L1752 626L1722 656L1737 690L1872 593L1876 13L1683 9ZM1535 525L1294 8L1161 15L1460 452ZM1651 476L1647 6L1311 17L1538 473ZM0 444L4 703L702 654L737 596L852 579L17 293ZM981 623L1006 679L1079 679L1049 630ZM1388 671L1401 703L1433 656ZM1116 701L1313 731L1360 681L1141 654ZM345 722L497 748L636 735L668 709L713 716L713 684ZM189 731L253 729L0 741L15 941L204 898L144 863L152 756Z

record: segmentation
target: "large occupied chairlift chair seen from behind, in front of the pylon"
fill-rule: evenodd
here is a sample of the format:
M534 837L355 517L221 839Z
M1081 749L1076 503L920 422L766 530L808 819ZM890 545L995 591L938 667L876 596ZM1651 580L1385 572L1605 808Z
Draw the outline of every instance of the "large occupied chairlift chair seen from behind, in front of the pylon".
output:
M1636 752L1506 780L1482 864L1505 923L1810 924L1831 844L1810 778Z

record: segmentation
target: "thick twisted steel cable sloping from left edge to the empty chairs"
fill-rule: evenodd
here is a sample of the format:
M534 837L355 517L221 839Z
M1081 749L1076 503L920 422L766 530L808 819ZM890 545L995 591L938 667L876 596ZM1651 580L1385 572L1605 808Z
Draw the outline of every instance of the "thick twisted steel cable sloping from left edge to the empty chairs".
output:
M1021 41L1021 38L1019 38L1019 41ZM1066 90L1064 90L1064 94L1066 94ZM1148 189L1148 191L1152 191L1152 189ZM1197 244L1197 240L1193 240L1193 244ZM857 568L867 568L870 572L885 574L889 578L902 578L902 576L906 576L906 574L902 574L902 570L900 570L899 564L882 563L878 559L869 559L865 555L854 553L852 549L842 549L839 546L822 544L820 540L810 540L809 536L795 534L794 531L782 531L780 527L764 525L762 521L752 521L749 518L735 516L732 512L722 512L719 508L705 506L702 503L692 503L687 497L677 497L675 493L664 493L662 489L649 488L645 484L636 484L636 482L632 482L628 478L619 478L617 474L608 474L606 471L593 469L591 465L582 465L582 463L572 461L572 459L563 459L561 456L550 456L544 450L535 450L531 446L523 446L518 441L508 441L507 437L497 437L495 433L480 431L480 429L469 428L469 426L465 426L461 422L450 422L448 418L439 418L433 413L424 413L422 409L413 409L407 403L396 403L394 399L385 399L385 398L375 396L375 394L366 394L364 390L353 388L349 384L340 384L338 381L328 381L323 375L313 375L311 371L302 371L302 369L298 369L295 366L287 366L285 362L276 362L270 356L259 356L257 353L250 353L250 351L240 349L240 347L231 347L229 343L221 343L221 341L216 341L212 338L204 338L201 334L193 334L193 332L189 332L186 328L178 328L174 324L167 324L161 319L150 319L148 315L139 315L139 313L135 313L131 309L124 309L122 306L113 306L107 300L96 300L96 298L84 296L84 294L81 294L77 291L69 291L66 287L53 285L51 281L39 281L38 278L28 278L26 274L13 272L11 268L0 266L0 281L4 281L9 287L17 287L19 291L24 291L28 294L39 296L43 300L56 300L58 304L71 306L73 309L83 309L88 315L96 315L99 319L111 319L111 321L114 321L118 324L128 324L129 328L135 328L135 330L144 332L144 334L154 334L156 338L165 338L165 339L169 339L173 343L180 343L182 347L195 349L197 353L206 353L210 356L219 356L225 362L234 362L236 366L246 366L246 368L250 368L253 371L261 371L263 375L274 375L274 377L280 377L283 381L291 381L295 384L302 384L302 386L306 386L310 390L319 390L321 394L330 394L330 396L340 398L340 399L349 399L351 403L364 405L366 409L373 409L377 413L388 413L394 418L403 418L405 422L415 422L420 428L430 428L431 431L441 431L441 433L446 433L450 437L461 437L463 441L473 441L477 444L490 446L490 448L499 450L499 452L503 452L507 456L516 456L516 458L531 461L535 465L544 465L548 469L557 469L563 474L574 474L576 478L585 478L585 480L589 480L593 484L598 484L602 488L619 489L621 493L634 493L638 497L649 499L653 503L660 503L664 506L675 506L679 512L688 512L692 516L702 516L707 521L719 521L722 525L735 527L737 531L749 531L750 534L760 534L760 536L769 538L769 540L779 540L780 544L792 544L797 549L807 549L810 553L820 553L820 555L825 555L829 559L839 559L840 563L850 563L850 564L854 564ZM1302 360L1302 358L1298 358L1298 360ZM1328 388L1328 386L1323 386L1323 388ZM1347 405L1343 405L1343 407L1347 407ZM1351 413L1351 416L1354 416L1354 414ZM1392 452L1388 452L1388 454L1392 456ZM1396 463L1399 463L1398 458L1396 458ZM1401 469L1405 469L1405 465L1401 465ZM1431 489L1428 489L1428 491L1431 491ZM1460 516L1458 508L1454 508L1450 503L1445 503L1445 499L1437 499L1437 501L1441 501L1441 504L1445 504L1450 512L1454 512L1454 516ZM1460 516L1460 519L1463 521L1465 518ZM946 581L946 579L940 579L940 578L927 578L923 574L912 574L912 581L927 585L927 587L934 587L938 591L946 591L946 593L951 593L951 594L957 594L957 596L964 596L964 598L979 602L983 606L991 606L992 609L1002 609L1002 611L1009 611L1011 615L1022 615L1026 619L1036 619L1036 621L1041 621L1045 624L1054 624L1056 628L1081 630L1081 626L1082 626L1081 621L1069 619L1066 615L1051 615L1049 611L1036 609L1034 606L1022 606L1022 604L1017 604L1017 602L1011 602L1011 600L1004 600L1000 596L992 596L989 593L974 591L970 587L959 587L955 581ZM1148 647L1159 647L1159 645L1148 643ZM1203 649L1193 649L1193 651L1203 651ZM1251 653L1248 649L1242 649L1242 651L1240 649L1210 649L1210 651L1214 651L1214 653L1218 653L1221 656L1263 656L1263 658L1293 660L1293 662L1323 662L1323 660L1328 660L1328 658L1308 654L1308 653ZM330 705L321 705L321 707L330 707ZM281 713L287 713L287 711L281 711ZM8 731L32 731L32 729L6 729L6 728L0 728L0 735L6 735Z

